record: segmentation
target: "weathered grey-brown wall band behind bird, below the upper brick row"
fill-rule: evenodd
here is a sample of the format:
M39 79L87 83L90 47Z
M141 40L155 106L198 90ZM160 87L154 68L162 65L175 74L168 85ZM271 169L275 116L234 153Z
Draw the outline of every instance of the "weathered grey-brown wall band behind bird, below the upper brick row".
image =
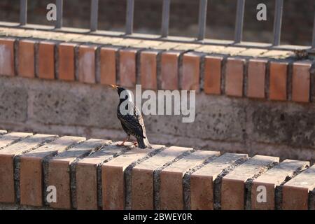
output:
M0 76L0 129L122 140L118 95L104 85ZM155 144L315 160L315 105L200 93L194 123L146 116Z

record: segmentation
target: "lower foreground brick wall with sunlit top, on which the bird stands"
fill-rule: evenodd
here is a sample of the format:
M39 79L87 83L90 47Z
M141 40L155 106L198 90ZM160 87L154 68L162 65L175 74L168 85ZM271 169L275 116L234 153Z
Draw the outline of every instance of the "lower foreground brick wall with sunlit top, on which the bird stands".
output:
M315 209L308 161L0 133L0 209Z

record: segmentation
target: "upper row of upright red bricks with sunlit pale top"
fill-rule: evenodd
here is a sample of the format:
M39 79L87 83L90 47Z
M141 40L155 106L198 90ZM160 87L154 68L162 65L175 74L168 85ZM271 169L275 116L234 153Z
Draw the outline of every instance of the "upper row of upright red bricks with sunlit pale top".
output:
M5 28L1 28L5 29ZM24 29L8 29L4 31L6 35L14 34L20 37L32 37L32 39L22 39L19 41L17 48L18 52L18 73L20 76L34 78L35 73L39 78L54 79L55 75L61 80L75 80L76 75L78 80L83 83L112 84L116 83L118 77L118 84L125 87L134 87L137 82L137 73L140 74L140 81L144 87L148 89L169 89L175 90L179 85L183 90L197 90L200 91L204 87L204 92L208 94L221 94L221 80L225 81L225 93L232 97L243 96L243 88L246 87L245 94L253 98L265 98L265 83L269 83L269 98L272 100L286 100L287 92L292 90L292 100L295 102L309 102L311 94L311 80L310 73L307 71L307 66L301 66L302 62L297 61L293 65L293 80L291 86L286 86L290 83L290 76L288 76L288 57L295 56L294 52L288 50L265 50L258 48L239 48L235 46L221 46L221 45L202 45L196 43L172 43L165 41L145 41L130 38L120 37L102 37L83 34L62 34L53 33L50 31L31 31ZM34 64L34 39L43 38L48 41L40 41L37 55L37 66L30 66ZM1 45L3 50L6 49L6 57L3 66L0 69L6 69L8 75L13 76L15 73L14 61L14 38L1 38ZM78 64L74 59L74 43L60 43L58 46L58 53L55 60L55 45L56 41L78 41L83 43L79 47ZM85 43L117 45L117 47L104 47L99 50L99 61L96 58L96 45L87 45ZM230 43L222 42L219 43ZM262 45L263 46L263 45ZM122 47L127 47L120 49ZM139 55L140 62L137 62L137 52L140 48L145 48L144 52ZM119 50L120 49L120 50ZM149 50L150 49L150 50ZM158 50L169 50L161 54L160 57L154 58ZM172 49L172 50L170 50ZM119 50L119 55L118 55ZM180 50L195 50L195 52L186 52L183 56L183 64L179 63ZM4 52L4 51L3 51ZM148 56L151 52L151 56ZM201 53L202 52L202 53ZM202 65L202 57L204 53L223 54L228 57L228 62L225 68L225 76L219 77L221 73L221 66L216 57L207 56ZM90 55L90 56L87 56ZM248 79L244 80L244 66L241 66L241 57L251 57L248 63ZM256 59L259 57L259 59ZM208 59L207 59L208 58ZM211 58L211 59L210 59ZM221 57L218 57L221 59ZM266 58L266 59L262 59ZM261 60L274 59L270 66L270 78L265 80L266 66ZM141 62L142 61L142 62ZM216 62L215 62L216 61ZM116 62L119 63L116 66ZM55 71L55 64L57 63L57 71ZM180 64L180 65L179 65ZM198 65L199 64L199 65ZM212 66L211 66L212 64ZM310 63L309 63L310 64ZM99 65L99 70L96 66ZM78 66L78 67L76 67ZM139 66L139 67L138 67ZM212 69L210 69L212 67ZM304 71L302 71L304 67ZM37 70L36 70L37 68ZM200 71L204 68L204 71ZM242 69L241 69L242 68ZM301 70L302 69L302 70ZM35 71L36 70L36 71ZM116 70L120 71L116 74ZM144 72L141 72L144 71ZM161 71L160 77L155 77ZM255 72L257 71L257 72ZM200 80L200 72L204 72L204 76ZM141 74L142 73L142 74ZM177 77L181 73L180 77ZM276 75L279 73L279 75ZM158 78L158 80L157 80ZM300 80L300 81L297 81ZM245 81L245 83L244 83ZM180 82L180 83L179 83ZM160 84L160 85L159 85ZM158 86L159 85L159 86ZM291 97L290 97L291 98Z

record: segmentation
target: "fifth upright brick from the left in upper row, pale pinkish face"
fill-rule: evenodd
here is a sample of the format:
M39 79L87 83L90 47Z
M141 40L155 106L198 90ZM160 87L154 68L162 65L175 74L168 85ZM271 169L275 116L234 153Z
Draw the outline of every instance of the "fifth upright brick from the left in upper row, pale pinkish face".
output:
M78 80L82 83L95 83L95 50L94 45L80 45L78 55Z

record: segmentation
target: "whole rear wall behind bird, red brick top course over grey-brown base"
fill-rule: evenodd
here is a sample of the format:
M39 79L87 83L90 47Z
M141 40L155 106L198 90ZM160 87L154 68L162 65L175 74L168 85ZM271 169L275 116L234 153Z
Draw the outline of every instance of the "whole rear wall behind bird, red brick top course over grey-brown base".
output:
M146 116L156 144L315 160L314 61L294 52L0 29L0 127L121 140L117 93L196 90L196 120ZM146 71L146 72L144 72Z

